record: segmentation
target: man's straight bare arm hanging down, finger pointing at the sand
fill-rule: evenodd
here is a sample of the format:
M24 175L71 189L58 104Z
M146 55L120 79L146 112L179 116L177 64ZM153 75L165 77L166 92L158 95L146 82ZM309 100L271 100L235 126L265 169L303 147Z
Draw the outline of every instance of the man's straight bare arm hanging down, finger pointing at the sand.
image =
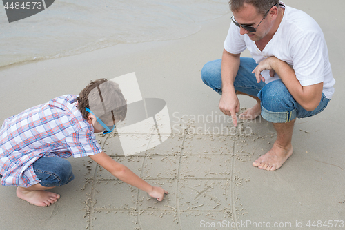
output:
M239 57L240 54L233 55L224 50L221 58L221 99L219 109L225 115L231 115L235 127L237 126L236 113L239 111L239 100L235 93L234 81L239 70Z

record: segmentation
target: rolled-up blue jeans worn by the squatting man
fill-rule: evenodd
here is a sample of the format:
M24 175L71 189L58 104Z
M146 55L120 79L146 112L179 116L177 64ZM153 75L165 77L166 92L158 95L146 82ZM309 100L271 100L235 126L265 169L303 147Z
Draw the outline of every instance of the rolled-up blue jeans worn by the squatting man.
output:
M275 80L268 84L257 83L255 74L252 73L256 66L253 58L241 57L234 86L236 91L259 97L261 115L268 122L286 123L296 117L311 117L323 111L330 101L322 93L319 106L314 111L306 111L288 92L282 80ZM206 85L221 94L221 59L208 61L201 70L201 78Z

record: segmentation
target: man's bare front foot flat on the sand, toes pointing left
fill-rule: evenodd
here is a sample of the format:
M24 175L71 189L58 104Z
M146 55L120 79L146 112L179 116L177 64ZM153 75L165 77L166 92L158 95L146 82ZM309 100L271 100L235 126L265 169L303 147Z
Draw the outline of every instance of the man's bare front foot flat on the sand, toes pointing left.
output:
M273 144L270 151L253 162L253 166L267 171L275 171L276 169L279 169L291 155L293 155L292 145L290 145L289 148L284 149Z

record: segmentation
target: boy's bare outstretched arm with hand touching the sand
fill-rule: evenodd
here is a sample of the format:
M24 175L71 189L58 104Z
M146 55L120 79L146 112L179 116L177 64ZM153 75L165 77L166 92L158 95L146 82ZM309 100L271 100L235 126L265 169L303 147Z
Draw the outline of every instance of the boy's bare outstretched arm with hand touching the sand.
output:
M109 171L116 178L119 178L119 180L135 186L142 191L146 191L148 195L152 196L152 198L157 198L158 201L163 200L164 193L168 194L168 192L161 187L155 187L148 184L148 182L139 178L139 176L130 171L130 169L128 169L126 166L119 164L104 152L96 155L90 155L89 157L104 169Z

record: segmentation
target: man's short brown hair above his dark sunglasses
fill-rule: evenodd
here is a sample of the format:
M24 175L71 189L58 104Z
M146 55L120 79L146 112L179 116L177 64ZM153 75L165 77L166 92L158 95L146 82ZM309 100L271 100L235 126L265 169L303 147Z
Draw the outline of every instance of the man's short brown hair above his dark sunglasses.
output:
M261 15L265 15L275 4L278 4L277 7L279 7L279 0L230 0L230 10L237 12L244 6L244 3L253 5Z

